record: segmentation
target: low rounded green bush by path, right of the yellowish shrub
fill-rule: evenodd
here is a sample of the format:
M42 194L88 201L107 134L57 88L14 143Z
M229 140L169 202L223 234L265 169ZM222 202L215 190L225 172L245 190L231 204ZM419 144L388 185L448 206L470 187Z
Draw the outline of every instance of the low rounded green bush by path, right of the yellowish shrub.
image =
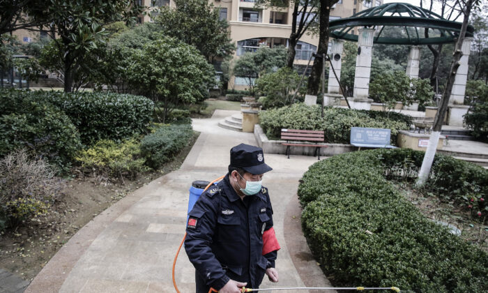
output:
M188 144L192 134L191 124L161 126L142 139L141 155L146 158L149 167L157 169L181 151Z

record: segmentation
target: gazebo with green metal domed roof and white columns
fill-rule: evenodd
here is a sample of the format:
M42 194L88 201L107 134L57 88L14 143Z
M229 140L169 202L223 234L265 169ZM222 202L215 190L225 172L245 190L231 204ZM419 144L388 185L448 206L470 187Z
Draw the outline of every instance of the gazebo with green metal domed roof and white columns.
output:
M343 40L358 42L356 57L356 73L354 75L353 105L356 108L367 108L365 103L369 91L369 75L371 71L372 46L378 44L411 45L406 74L418 78L420 61L419 45L455 43L461 29L460 22L445 20L430 10L413 6L409 3L387 3L363 10L351 17L331 20L329 24L331 62L337 77L340 78L341 54ZM358 34L352 33L356 30ZM388 31L388 33L386 33ZM468 74L468 56L474 28L470 25L462 46L462 65L459 66L456 82L452 88L450 104L462 105ZM337 99L340 87L332 71L329 69L328 93L326 102ZM467 111L467 109L466 109Z

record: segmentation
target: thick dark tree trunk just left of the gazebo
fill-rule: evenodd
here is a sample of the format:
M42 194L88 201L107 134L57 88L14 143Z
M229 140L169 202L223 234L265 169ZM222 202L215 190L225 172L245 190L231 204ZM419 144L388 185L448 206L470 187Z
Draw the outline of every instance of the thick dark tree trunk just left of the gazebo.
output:
M317 55L327 54L328 38L329 38L329 15L330 2L322 1L319 14L319 47L317 48ZM317 96L319 92L320 76L322 74L322 58L315 58L312 66L312 73L308 77L307 93L309 95Z

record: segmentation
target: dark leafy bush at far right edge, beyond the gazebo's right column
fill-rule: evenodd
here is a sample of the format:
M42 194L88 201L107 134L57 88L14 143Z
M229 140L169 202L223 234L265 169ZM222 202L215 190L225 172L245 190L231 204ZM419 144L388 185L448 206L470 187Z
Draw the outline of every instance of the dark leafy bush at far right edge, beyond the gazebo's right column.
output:
M471 103L471 109L464 115L464 122L471 135L478 140L488 140L488 85L481 80L468 81L466 85L466 96L471 99L476 97Z

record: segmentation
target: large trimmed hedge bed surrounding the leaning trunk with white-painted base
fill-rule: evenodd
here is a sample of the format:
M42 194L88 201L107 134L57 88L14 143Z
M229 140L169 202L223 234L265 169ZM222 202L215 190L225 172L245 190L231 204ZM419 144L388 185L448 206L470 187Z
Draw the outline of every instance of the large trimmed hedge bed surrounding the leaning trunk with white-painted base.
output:
M436 156L425 188L411 189L422 158L409 149L345 153L304 174L298 188L303 231L336 285L485 292L486 242L466 241L470 233L452 234L418 206L425 197L439 200L443 209L452 206L453 217L471 217L486 239L488 171Z

